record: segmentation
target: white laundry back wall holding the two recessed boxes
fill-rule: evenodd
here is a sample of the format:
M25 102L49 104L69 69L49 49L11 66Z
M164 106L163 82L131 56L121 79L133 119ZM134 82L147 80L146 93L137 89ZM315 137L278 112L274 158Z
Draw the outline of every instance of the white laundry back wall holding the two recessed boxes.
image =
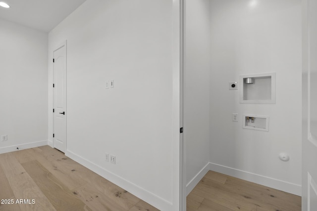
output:
M211 0L210 8L211 169L300 195L301 1ZM276 104L240 104L239 90L228 90L240 75L269 72ZM269 131L242 129L243 114L269 116Z

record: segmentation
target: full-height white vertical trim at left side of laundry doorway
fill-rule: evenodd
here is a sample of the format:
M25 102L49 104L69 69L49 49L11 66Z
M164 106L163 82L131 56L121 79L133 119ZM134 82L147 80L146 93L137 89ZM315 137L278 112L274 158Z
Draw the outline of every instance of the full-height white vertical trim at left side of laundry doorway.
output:
M183 182L184 159L182 158L182 144L179 133L181 126L181 79L180 72L182 70L182 4L184 0L172 0L172 206L168 210L186 211L185 183ZM140 197L141 198L141 197ZM185 199L185 201L184 201ZM166 210L167 209L160 209Z

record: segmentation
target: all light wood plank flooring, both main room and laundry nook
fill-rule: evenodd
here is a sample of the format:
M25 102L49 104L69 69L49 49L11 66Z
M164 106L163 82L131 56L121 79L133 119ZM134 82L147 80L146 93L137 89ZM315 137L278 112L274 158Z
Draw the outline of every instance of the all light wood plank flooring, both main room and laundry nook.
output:
M0 154L1 199L14 203L0 211L158 211L49 146ZM187 196L187 211L300 210L299 196L213 171Z

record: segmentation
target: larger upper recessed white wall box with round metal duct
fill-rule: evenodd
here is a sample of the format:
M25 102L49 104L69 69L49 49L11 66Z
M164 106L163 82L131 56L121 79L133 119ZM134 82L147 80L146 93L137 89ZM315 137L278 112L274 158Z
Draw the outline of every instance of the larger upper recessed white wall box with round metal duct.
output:
M240 76L240 103L275 103L275 73Z

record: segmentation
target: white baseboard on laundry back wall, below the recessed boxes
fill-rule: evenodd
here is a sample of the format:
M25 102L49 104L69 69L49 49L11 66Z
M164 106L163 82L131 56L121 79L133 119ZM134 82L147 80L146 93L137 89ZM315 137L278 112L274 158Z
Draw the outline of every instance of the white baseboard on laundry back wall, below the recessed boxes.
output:
M209 163L209 169L219 173L227 174L229 176L234 176L239 179L244 179L250 182L258 183L260 185L281 190L287 193L302 196L302 186L298 184L282 181L279 179L274 179L260 174L251 173L248 171L233 169L230 167L225 167L213 163Z

